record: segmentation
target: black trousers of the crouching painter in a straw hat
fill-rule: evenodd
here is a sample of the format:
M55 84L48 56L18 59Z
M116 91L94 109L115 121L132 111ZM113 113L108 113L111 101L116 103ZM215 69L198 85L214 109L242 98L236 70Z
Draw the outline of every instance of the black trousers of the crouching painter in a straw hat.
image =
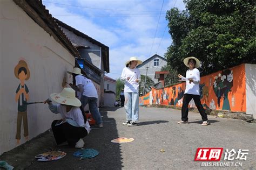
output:
M87 136L87 130L85 128L72 126L67 122L55 126L58 121L59 120L55 120L51 124L53 136L57 145L68 141L70 147L75 147L77 141L80 138L84 138L85 136Z

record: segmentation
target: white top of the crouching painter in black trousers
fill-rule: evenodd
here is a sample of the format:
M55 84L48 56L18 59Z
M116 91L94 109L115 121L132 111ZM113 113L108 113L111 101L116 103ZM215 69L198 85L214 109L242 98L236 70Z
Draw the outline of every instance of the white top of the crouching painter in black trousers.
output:
M90 125L89 125L88 121L86 121L86 123L84 123L84 116L79 107L72 107L69 112L66 112L65 105L57 104L57 111L59 112L60 115L62 115L62 118L72 119L80 127L84 127L89 134L89 132L91 130Z

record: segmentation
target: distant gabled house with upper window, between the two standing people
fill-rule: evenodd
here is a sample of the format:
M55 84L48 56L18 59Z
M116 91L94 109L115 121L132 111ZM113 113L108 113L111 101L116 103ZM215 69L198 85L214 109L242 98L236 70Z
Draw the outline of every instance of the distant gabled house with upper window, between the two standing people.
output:
M160 55L154 54L149 59L143 61L143 63L137 68L140 71L141 75L146 75L150 77L155 83L159 81L159 79L155 79L155 73L159 72L163 66L167 65L167 60Z

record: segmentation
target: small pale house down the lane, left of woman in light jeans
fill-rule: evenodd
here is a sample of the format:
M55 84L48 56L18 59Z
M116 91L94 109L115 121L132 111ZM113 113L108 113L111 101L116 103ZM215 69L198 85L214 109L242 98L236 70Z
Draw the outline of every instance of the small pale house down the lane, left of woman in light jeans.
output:
M117 81L108 76L104 76L104 80L104 107L114 107Z

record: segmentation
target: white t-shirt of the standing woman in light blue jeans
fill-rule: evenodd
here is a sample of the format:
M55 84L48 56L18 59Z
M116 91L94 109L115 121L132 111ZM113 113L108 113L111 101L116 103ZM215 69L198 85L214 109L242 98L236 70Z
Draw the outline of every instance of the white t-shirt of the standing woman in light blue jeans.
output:
M130 77L129 80L127 80L127 77ZM140 72L138 68L130 69L129 67L125 67L123 69L121 80L125 80L124 84L124 92L138 92L139 91L139 82L136 82L136 79L139 79L140 81Z

